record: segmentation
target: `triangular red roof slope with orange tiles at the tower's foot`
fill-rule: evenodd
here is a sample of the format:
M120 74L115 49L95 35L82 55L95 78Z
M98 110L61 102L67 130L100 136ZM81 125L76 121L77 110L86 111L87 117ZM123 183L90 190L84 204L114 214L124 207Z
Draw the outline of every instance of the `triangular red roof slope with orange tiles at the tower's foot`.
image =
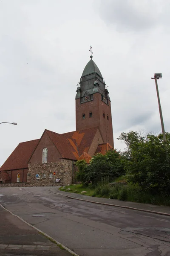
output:
M88 153L88 150L93 142L94 136L98 130L98 127L88 128L81 131L71 131L65 134L61 134L62 136L75 140L75 143L78 148L79 156L83 154L83 152Z

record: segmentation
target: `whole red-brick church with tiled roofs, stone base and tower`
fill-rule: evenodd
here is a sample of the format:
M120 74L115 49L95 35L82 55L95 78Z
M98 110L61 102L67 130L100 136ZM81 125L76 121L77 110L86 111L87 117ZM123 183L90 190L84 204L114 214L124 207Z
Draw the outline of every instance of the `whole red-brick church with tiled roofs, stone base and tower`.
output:
M89 163L95 154L114 148L111 99L92 58L77 87L76 131L45 129L40 139L19 143L0 168L0 186L72 184L77 160Z

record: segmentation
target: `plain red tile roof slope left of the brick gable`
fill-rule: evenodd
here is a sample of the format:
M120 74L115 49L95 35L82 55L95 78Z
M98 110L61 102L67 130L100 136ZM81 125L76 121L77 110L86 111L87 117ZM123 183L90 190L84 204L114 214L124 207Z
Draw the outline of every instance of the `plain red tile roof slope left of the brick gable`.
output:
M14 149L5 163L0 167L0 171L28 168L28 160L39 140L30 140L17 145L17 148Z

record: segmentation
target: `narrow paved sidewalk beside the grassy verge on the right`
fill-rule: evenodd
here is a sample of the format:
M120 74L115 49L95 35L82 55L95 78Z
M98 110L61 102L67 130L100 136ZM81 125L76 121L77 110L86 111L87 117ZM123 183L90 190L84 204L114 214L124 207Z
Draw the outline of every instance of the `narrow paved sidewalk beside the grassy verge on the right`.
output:
M133 203L133 202L128 202L128 201L119 201L116 199L91 197L91 196L87 196L87 195L80 195L80 194L60 191L59 187L50 188L49 191L57 192L57 193L60 193L62 195L66 195L66 196L70 196L75 199L83 199L83 200L88 200L88 201L102 203L102 204L119 205L122 207L132 207L132 208L137 208L137 209L141 209L141 210L148 210L148 211L162 212L165 214L170 214L170 207L168 207L168 206L157 206L157 205L152 205L152 204L139 204L139 203Z

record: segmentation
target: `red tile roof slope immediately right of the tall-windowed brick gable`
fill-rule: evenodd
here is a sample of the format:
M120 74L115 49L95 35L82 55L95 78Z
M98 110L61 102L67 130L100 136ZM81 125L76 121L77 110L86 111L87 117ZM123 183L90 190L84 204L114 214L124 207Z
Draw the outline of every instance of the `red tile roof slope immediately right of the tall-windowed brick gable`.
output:
M53 131L45 131L63 158L77 160L79 153L74 139L66 138Z

